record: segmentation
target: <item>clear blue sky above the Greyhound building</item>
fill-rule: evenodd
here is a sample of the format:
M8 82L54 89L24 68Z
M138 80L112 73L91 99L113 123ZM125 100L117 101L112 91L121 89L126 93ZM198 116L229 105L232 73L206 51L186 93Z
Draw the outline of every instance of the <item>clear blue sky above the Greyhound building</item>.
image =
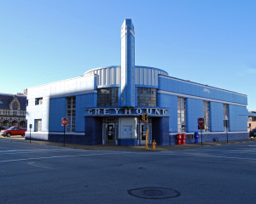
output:
M125 18L136 65L247 94L256 111L253 0L0 0L0 93L120 65Z

